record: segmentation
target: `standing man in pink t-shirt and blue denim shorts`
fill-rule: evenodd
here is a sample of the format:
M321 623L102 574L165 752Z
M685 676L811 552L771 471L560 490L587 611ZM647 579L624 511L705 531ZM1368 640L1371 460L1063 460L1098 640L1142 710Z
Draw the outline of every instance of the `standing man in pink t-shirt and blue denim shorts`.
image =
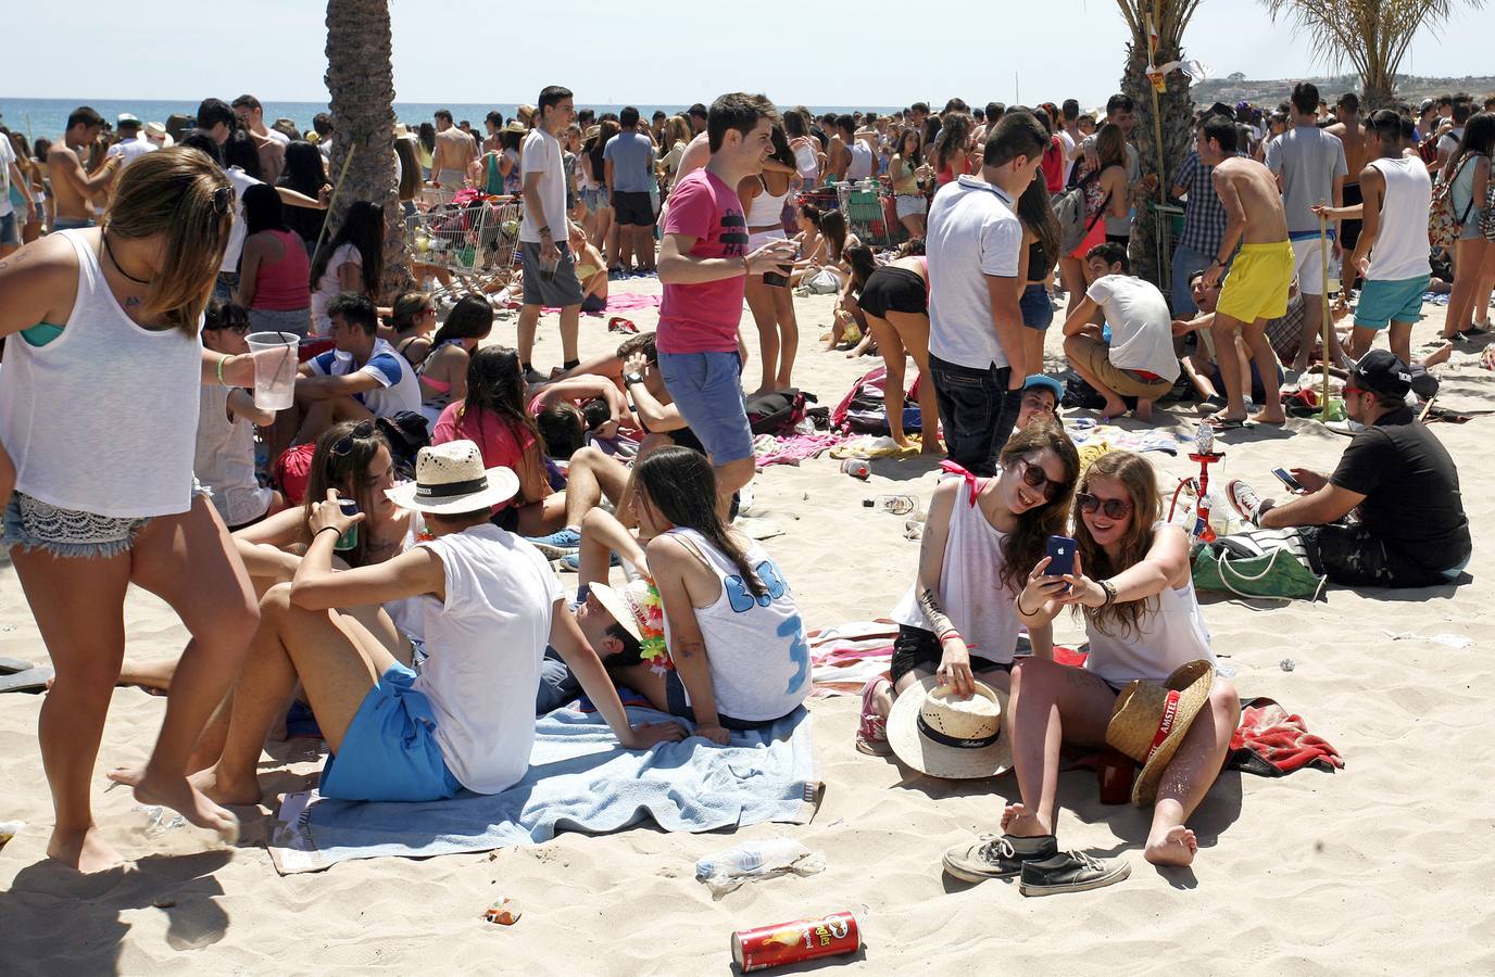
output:
M724 514L753 475L737 353L746 275L792 263L797 248L780 239L749 254L737 199L737 184L761 173L773 149L774 117L762 96L733 93L712 103L706 124L712 158L676 182L659 246L659 372L716 468Z

